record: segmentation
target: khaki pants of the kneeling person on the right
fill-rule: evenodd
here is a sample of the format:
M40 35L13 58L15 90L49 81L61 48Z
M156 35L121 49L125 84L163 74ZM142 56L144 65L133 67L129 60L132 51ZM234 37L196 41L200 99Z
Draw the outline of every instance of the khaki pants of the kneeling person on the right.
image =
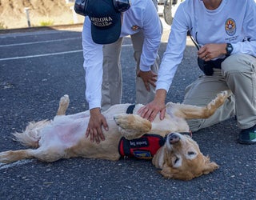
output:
M202 75L186 87L183 103L205 106L222 90L231 90L233 94L210 118L188 120L190 130L212 126L234 115L240 129L256 124L256 58L230 55L222 62L222 70L214 69L213 76Z

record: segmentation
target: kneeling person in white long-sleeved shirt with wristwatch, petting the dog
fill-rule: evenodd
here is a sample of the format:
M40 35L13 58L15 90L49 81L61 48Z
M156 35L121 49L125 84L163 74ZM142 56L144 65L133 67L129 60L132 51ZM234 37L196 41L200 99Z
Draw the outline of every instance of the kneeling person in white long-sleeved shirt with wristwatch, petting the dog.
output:
M205 106L222 90L232 95L210 118L188 120L192 131L236 116L238 142L256 143L256 3L254 0L186 0L178 7L158 71L154 100L139 110L153 121L165 115L166 93L182 61L186 36L198 43L205 73L186 87L183 103ZM186 73L184 71L184 73Z

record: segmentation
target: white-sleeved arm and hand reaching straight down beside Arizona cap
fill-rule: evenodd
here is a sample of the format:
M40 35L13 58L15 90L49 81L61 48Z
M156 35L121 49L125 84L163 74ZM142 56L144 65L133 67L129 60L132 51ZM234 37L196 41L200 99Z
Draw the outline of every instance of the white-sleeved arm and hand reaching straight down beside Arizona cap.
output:
M82 30L82 47L84 69L86 71L86 100L89 103L90 120L86 129L86 138L90 136L91 142L104 140L102 126L108 130L106 118L101 114L102 100L102 45L95 44L90 34L90 22L86 18Z

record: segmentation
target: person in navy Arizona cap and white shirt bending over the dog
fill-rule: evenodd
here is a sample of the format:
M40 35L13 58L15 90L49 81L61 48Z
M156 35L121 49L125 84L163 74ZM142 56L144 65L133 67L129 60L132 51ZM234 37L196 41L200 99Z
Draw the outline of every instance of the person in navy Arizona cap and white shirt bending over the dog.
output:
M122 95L122 87L121 92L120 86L118 89L114 87L122 84L120 69L118 76L114 77L114 74L106 69L107 62L119 62L123 37L142 32L142 54L138 55L135 51L134 57L139 63L137 76L141 78L140 89L148 93L142 92L150 96L151 99L145 98L145 101L150 102L154 98L152 92L155 90L157 80L158 67L154 65L158 58L162 26L152 0L86 0L86 6L82 12L86 15L82 30L82 47L83 66L86 70L86 100L90 109L86 137L90 137L91 142L100 142L105 139L102 126L108 130L106 118L101 114L102 105L105 105L102 98L104 95L107 98L108 93L114 92L119 100L106 102L107 106L110 106L121 103L119 101ZM105 84L102 84L102 76ZM114 82L113 87L104 88L108 84L106 81L110 84ZM146 103L139 102L138 98L136 99L138 103Z

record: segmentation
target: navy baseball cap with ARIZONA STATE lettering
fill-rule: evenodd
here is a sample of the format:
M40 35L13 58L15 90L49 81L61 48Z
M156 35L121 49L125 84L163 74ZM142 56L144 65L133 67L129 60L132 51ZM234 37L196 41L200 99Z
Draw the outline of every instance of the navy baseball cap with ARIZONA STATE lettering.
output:
M98 44L116 42L121 34L121 13L113 0L87 0L85 13L90 18L91 36Z

